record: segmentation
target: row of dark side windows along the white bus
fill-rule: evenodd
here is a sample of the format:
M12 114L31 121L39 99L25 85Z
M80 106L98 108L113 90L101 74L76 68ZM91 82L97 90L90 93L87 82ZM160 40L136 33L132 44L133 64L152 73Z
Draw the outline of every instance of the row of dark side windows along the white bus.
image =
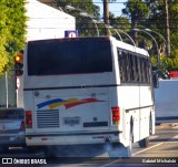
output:
M121 83L150 83L150 61L139 54L118 49Z

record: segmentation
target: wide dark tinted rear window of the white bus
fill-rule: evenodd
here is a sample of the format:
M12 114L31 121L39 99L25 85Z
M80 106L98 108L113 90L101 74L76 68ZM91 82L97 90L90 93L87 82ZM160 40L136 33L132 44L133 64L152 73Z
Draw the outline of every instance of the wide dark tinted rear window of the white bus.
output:
M112 71L110 41L43 40L28 43L28 75L83 74Z

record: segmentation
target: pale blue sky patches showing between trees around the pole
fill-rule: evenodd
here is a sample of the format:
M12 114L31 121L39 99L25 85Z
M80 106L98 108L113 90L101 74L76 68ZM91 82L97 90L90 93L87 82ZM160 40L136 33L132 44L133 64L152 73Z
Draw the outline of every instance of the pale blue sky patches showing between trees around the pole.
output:
M112 12L116 17L121 15L121 9L125 8L123 2L127 0L116 0L116 2L109 3L109 11ZM102 0L92 0L96 6L100 7L100 14L103 15L103 4Z

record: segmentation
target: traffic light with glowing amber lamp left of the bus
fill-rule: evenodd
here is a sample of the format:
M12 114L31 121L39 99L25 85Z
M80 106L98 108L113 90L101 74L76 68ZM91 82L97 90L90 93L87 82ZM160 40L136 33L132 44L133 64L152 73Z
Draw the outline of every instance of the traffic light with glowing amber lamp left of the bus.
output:
M14 71L17 76L21 76L23 74L23 54L18 53L14 56Z

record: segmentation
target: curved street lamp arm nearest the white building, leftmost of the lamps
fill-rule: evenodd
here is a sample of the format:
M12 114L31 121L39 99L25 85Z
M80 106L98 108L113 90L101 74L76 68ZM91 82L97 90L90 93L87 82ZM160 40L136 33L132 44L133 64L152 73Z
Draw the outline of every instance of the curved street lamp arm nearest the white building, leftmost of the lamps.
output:
M80 12L80 15L81 15L81 17L90 18L91 21L92 21L93 24L95 24L96 30L97 30L97 35L99 36L99 30L98 30L98 27L97 27L97 24L96 24L97 20L95 20L90 14L88 14L88 13L85 12L85 11L82 11L81 9L77 9L77 8L72 7L72 6L66 6L66 9L68 9L68 10L76 10L76 11Z

